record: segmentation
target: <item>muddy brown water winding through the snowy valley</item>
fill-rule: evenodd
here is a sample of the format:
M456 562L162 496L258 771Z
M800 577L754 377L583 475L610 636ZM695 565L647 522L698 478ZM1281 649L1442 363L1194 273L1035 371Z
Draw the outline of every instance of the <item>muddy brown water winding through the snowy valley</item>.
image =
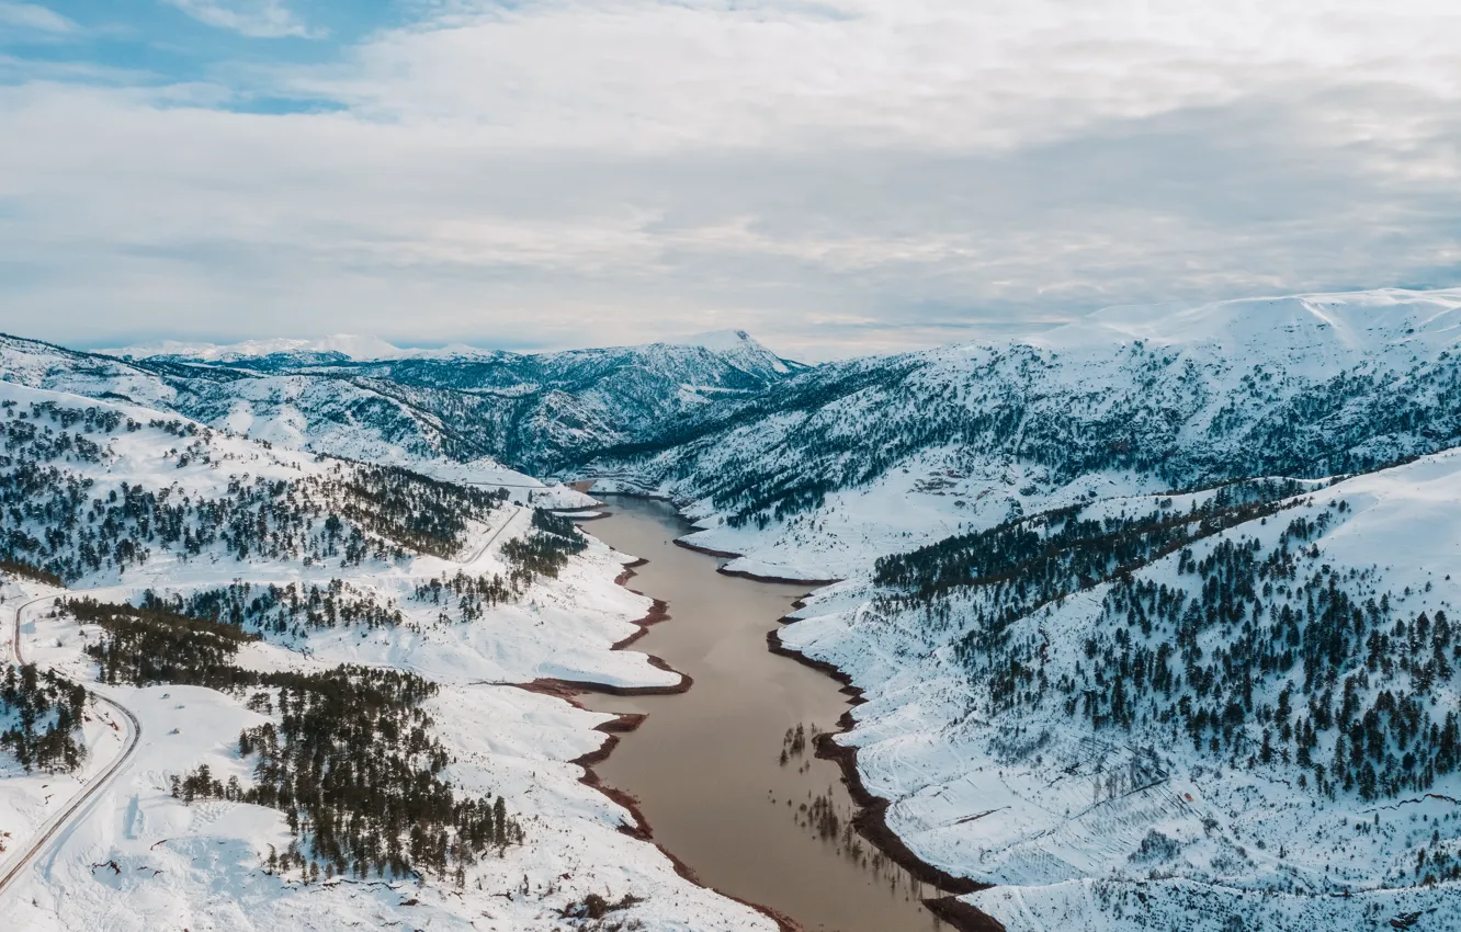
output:
M663 657L694 687L580 697L596 710L649 716L595 767L603 782L640 801L655 840L704 884L809 932L939 928L920 903L938 891L849 831L855 806L842 773L812 755L814 727L833 730L847 697L830 676L766 647L806 586L716 573L723 561L672 543L688 526L665 503L614 497L609 505L611 517L584 529L647 558L630 586L669 603L671 619L633 650Z

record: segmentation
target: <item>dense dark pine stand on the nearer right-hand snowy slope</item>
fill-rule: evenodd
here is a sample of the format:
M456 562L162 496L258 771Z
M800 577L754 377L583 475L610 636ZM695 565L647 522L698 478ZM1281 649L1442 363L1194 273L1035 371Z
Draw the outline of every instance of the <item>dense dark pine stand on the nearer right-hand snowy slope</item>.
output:
M1294 519L1270 548L1242 538L1202 558L1183 551L1191 590L1118 580L1103 602L1113 634L1087 641L1091 666L1067 684L1067 711L1097 727L1166 725L1249 765L1296 764L1300 786L1331 798L1424 792L1454 773L1461 723L1435 700L1449 697L1461 638L1445 611L1407 618L1389 593L1351 596L1373 570L1312 565L1305 542L1346 510ZM1255 700L1280 684L1275 704Z

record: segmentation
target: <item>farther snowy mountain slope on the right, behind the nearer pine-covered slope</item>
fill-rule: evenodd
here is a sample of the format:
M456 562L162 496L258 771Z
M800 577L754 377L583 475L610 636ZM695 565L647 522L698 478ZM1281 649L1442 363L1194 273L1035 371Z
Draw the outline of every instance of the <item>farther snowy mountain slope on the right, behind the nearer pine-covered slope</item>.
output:
M1087 495L1327 476L1461 443L1461 291L1112 308L1036 339L827 364L602 453L745 554L834 578Z

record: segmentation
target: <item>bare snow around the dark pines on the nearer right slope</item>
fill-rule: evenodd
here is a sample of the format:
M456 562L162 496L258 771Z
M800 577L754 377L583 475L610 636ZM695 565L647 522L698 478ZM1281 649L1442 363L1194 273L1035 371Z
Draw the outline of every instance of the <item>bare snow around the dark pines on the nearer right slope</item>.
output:
M1223 538L1273 546L1292 517L1313 517L1346 501L1347 516L1315 541L1319 555L1305 561L1300 577L1327 565L1346 578L1349 568L1378 564L1376 589L1395 593L1407 615L1449 612L1461 603L1461 578L1452 578L1461 565L1461 451L1309 495L1313 504L1199 542L1195 557ZM1115 503L1102 507L1115 510ZM1138 577L1179 586L1175 564L1169 557ZM1045 672L1056 679L1083 660L1078 646L1100 619L1103 592L1097 586L1048 606L1018 622L1011 637L1039 631L1050 644ZM969 706L957 665L938 640L925 640L916 614L881 618L869 595L858 580L821 590L798 612L805 621L782 631L782 641L837 665L865 690L866 704L856 708L856 727L843 741L859 748L868 789L893 801L890 827L925 860L996 884L969 901L1007 928L1226 931L1230 914L1255 923L1243 928L1357 928L1360 917L1429 909L1442 913L1427 917L1438 925L1426 928L1461 922L1461 884L1394 888L1397 878L1413 881L1414 846L1429 841L1433 828L1443 837L1458 834L1452 824L1461 818L1461 774L1438 779L1429 796L1362 802L1340 793L1331 802L1299 789L1297 767L1214 768L1192 754L1191 742L1172 741L1161 729L1091 732L1053 708L986 720ZM1273 692L1255 701L1273 703L1277 688ZM1442 711L1458 700L1454 684L1436 697ZM1036 742L1039 755L999 749L1012 725ZM1147 745L1159 748L1167 777L1093 802L1093 768ZM1328 754L1321 746L1315 760ZM1360 833L1362 822L1376 828ZM1151 831L1180 846L1176 859L1156 863L1154 876L1137 855ZM1099 909L1093 890L1100 893ZM1351 900L1334 901L1328 894L1338 890L1349 890ZM1129 912L1113 906L1122 897ZM1134 923L1138 910L1144 919Z

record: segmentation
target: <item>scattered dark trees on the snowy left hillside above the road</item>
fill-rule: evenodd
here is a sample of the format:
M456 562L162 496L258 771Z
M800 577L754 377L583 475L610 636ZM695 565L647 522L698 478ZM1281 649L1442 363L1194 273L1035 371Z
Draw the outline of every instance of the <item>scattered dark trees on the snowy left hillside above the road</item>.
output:
M470 522L487 519L506 497L364 463L288 481L229 475L213 495L177 484L155 489L123 481L104 488L69 467L114 456L115 431L175 437L181 446L162 459L177 469L221 465L215 432L197 424L140 424L110 409L6 402L0 559L73 581L145 565L156 551L184 561L207 552L305 565L336 559L342 567L400 559L408 549L450 557L465 545Z

